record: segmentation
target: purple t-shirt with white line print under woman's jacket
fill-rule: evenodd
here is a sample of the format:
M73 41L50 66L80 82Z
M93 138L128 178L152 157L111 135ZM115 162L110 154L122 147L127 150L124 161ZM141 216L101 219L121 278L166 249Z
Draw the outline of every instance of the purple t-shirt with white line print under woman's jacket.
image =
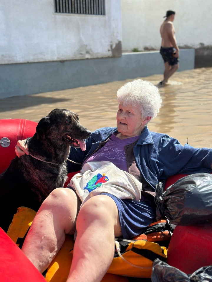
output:
M128 172L125 146L137 141L139 136L120 139L115 134L112 134L107 143L87 160L85 160L83 164L86 162L108 161L115 164L119 169Z

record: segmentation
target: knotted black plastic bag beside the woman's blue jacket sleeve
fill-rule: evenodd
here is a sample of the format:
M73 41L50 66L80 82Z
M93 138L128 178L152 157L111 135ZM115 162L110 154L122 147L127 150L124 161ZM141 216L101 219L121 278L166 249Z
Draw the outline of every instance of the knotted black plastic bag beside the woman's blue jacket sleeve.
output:
M156 220L167 218L175 225L212 221L212 174L196 173L179 179L163 192L156 185Z

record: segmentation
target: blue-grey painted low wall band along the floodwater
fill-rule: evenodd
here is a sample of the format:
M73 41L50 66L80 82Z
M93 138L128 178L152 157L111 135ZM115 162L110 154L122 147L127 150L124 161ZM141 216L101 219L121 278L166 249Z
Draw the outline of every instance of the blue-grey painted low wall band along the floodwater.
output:
M180 49L178 71L194 68L194 49ZM124 53L120 58L0 65L0 98L64 90L162 74L159 51Z

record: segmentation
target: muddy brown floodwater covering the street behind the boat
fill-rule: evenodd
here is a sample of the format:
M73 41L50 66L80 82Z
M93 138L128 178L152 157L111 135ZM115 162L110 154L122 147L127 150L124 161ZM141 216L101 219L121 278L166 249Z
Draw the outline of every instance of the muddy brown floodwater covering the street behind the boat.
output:
M149 122L150 130L166 133L180 143L212 148L212 68L175 73L159 89L160 113ZM162 75L139 77L156 85ZM116 126L116 92L133 79L73 89L0 99L0 119L23 118L38 122L54 108L72 110L82 125L95 130Z

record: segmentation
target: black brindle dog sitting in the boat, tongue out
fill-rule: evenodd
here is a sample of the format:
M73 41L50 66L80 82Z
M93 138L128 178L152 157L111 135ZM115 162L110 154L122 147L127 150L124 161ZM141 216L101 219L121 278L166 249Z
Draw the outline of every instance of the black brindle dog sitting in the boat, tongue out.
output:
M0 175L0 227L4 231L18 207L37 211L52 190L63 187L70 146L85 151L84 139L90 134L69 110L54 109L39 121L34 136L26 140L29 155L15 157Z

